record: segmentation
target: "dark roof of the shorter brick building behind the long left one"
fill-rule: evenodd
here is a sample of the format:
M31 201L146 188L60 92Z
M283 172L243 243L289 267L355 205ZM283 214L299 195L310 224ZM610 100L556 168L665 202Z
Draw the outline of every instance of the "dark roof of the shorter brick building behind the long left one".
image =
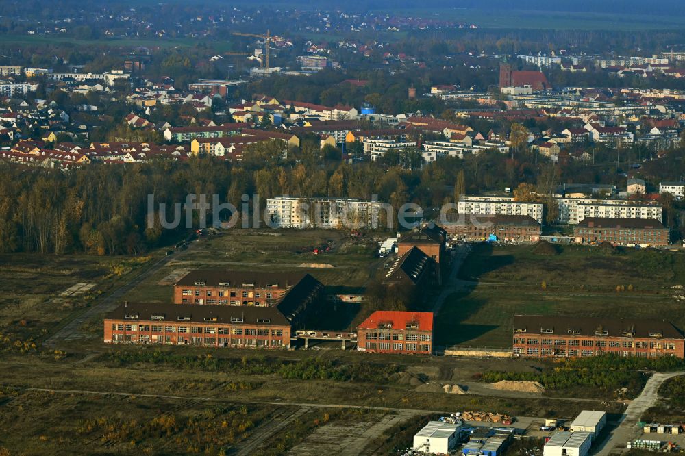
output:
M195 286L196 283L205 283L209 287L218 287L219 283L225 286L241 287L243 285L255 288L288 288L299 283L306 274L304 273L262 273L242 272L223 269L198 269L184 275L176 285Z

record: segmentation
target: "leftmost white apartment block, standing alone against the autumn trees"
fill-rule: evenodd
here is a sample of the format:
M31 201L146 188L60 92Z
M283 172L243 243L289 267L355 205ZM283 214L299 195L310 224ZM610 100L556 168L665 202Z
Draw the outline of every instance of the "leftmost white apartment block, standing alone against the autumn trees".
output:
M275 197L266 213L278 228L377 228L379 201L347 198Z

